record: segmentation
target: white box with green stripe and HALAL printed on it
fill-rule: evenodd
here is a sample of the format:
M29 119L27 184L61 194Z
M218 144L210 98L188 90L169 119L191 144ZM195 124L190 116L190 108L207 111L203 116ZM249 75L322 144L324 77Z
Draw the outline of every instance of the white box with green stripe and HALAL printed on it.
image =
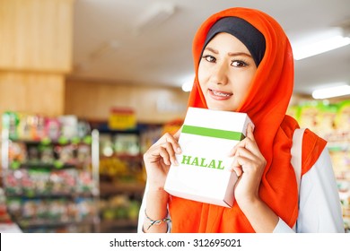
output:
M233 158L228 154L245 137L249 122L245 113L188 108L179 135L179 166L171 165L165 191L189 200L232 207L237 176L229 170Z

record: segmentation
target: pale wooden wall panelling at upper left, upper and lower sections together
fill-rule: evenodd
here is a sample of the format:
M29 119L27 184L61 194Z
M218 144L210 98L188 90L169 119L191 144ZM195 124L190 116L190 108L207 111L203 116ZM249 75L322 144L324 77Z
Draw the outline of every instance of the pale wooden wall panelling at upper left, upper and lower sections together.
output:
M74 0L0 0L0 113L64 113Z

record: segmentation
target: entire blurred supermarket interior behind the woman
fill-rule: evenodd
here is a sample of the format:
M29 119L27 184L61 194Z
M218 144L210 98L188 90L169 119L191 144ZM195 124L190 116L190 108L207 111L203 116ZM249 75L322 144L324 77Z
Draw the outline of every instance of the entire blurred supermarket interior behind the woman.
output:
M288 113L328 140L349 231L349 0L0 0L0 232L136 232L142 155L185 117L199 25L233 6L290 38Z

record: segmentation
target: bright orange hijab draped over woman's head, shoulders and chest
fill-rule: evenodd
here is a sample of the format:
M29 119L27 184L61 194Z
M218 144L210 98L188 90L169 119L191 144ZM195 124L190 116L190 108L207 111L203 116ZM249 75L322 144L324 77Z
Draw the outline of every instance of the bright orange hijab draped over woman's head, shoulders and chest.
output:
M207 108L197 81L197 68L208 30L225 16L246 20L266 39L265 55L237 111L248 113L252 119L258 147L267 160L259 188L260 198L293 227L298 217L298 192L291 166L291 147L293 131L299 125L285 115L293 92L293 54L281 26L266 13L246 8L232 8L209 17L197 31L193 43L196 78L188 107ZM311 169L325 144L316 134L306 131L302 144L302 174ZM237 203L225 208L171 196L169 211L172 232L254 232Z

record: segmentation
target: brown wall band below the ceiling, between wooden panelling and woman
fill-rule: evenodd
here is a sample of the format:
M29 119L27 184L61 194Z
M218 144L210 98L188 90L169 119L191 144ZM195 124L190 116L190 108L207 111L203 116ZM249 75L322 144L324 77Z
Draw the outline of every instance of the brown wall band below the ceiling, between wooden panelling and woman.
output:
M67 81L65 113L106 120L112 107L134 108L142 123L166 123L186 114L188 92L180 88Z

